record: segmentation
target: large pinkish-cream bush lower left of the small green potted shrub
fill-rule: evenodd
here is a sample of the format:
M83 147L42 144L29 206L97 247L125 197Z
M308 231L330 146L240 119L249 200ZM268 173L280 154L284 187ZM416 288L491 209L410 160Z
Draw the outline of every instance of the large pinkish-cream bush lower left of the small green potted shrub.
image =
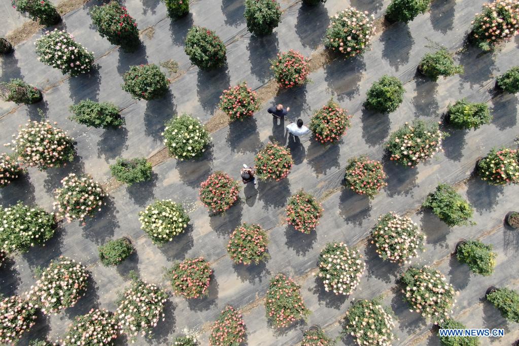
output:
M44 314L73 307L85 295L87 268L68 257L53 260L28 292L29 300Z

